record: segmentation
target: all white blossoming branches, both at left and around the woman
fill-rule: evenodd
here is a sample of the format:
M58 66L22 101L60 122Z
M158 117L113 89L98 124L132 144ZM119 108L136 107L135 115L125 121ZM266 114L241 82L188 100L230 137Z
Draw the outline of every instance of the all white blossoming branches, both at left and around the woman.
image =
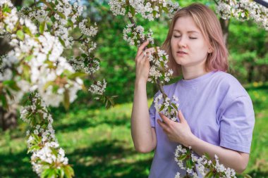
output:
M222 18L252 18L268 30L267 8L247 0L215 1L217 12ZM152 30L135 22L135 16L154 20L162 14L172 14L180 8L178 4L165 0L109 1L114 15L126 15L130 24L124 30L123 38L130 45L139 46L145 40L153 46ZM33 170L39 177L73 177L74 172L68 165L63 148L56 140L48 106L68 108L77 97L79 90L86 90L83 80L92 84L88 91L97 95L97 99L112 103L112 98L104 96L106 81L95 80L99 70L99 59L92 51L97 44L92 41L97 34L97 25L81 18L83 6L80 0L39 0L32 8L20 11L10 0L0 1L0 35L10 39L13 47L6 56L1 56L0 98L1 106L8 108L11 103L22 103L21 119L30 125L27 132L28 152L32 153ZM71 37L71 30L78 29L80 37ZM73 44L80 45L80 55L64 57L63 50L70 50ZM168 56L165 51L156 49L150 56L149 81L159 87L161 94L155 99L159 112L176 119L178 98L168 98L162 84L169 82L172 70L167 69ZM196 169L207 177L235 177L235 172L219 164L219 160L209 161L204 155L196 158L189 148L178 146L175 153L178 166L187 169L188 177L197 177ZM195 163L197 167L195 167ZM215 171L217 170L217 171ZM176 175L179 177L179 174Z

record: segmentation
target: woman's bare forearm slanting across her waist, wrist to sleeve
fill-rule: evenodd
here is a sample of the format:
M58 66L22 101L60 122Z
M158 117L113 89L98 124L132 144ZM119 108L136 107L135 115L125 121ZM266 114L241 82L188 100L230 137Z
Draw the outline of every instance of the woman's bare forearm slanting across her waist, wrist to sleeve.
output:
M247 153L242 153L242 155L238 151L209 144L196 136L193 136L190 146L198 155L207 153L210 158L214 158L214 155L217 155L221 164L232 168L238 173L242 173L248 165L248 155L245 155Z

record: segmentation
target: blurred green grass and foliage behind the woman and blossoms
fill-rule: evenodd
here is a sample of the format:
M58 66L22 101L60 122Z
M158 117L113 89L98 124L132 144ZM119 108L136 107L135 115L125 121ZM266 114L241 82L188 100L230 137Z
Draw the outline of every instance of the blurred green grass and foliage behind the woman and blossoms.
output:
M32 4L30 0L21 2L23 6ZM90 94L79 92L70 110L64 110L63 106L51 108L56 137L73 165L75 177L147 177L153 153L137 153L130 136L137 49L123 41L123 28L129 20L114 17L107 1L82 2L87 6L85 18L89 17L99 27L95 55L101 59L101 69L97 78L108 82L106 94L118 97L116 106L106 110ZM193 1L178 2L186 6ZM199 2L215 8L214 1ZM151 28L155 45L161 46L169 20L148 22L138 17L136 21L145 30ZM252 21L234 19L230 20L228 34L229 72L243 84L255 108L252 152L245 172L252 177L268 177L268 34ZM73 35L77 34L73 32ZM1 51L4 50L0 48ZM65 51L65 55L71 56L75 51L74 47L74 51ZM156 91L153 84L147 84L148 98ZM151 102L152 99L148 104ZM28 125L21 120L17 122L15 129L0 129L0 177L37 177L27 154Z

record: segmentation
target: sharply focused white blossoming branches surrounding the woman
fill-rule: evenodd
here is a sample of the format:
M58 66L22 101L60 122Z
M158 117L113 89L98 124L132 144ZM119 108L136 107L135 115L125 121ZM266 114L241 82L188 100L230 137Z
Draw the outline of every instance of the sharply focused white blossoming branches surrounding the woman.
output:
M238 20L255 20L256 23L268 30L268 10L264 6L253 1L214 1L217 4L217 13L222 19L236 18ZM123 30L123 39L130 45L139 47L145 41L149 41L148 47L152 47L154 39L152 39L152 30L145 32L144 28L135 22L135 16L140 15L147 20L159 18L163 13L167 13L172 17L173 13L180 8L178 4L165 0L138 0L123 1L110 0L109 6L114 15L126 15L130 20L130 24L126 25ZM176 121L178 112L178 101L176 96L169 98L163 90L162 84L169 82L173 71L168 69L168 56L162 49L155 48L155 53L150 54L150 74L148 82L156 83L160 94L154 98L154 107L158 112L163 113L171 120ZM203 177L236 177L236 172L230 168L224 167L219 163L219 158L215 155L215 159L210 160L208 155L197 158L193 151L185 146L177 146L175 151L175 161L181 169L186 170L185 177L198 177L200 172ZM174 175L180 177L178 172Z

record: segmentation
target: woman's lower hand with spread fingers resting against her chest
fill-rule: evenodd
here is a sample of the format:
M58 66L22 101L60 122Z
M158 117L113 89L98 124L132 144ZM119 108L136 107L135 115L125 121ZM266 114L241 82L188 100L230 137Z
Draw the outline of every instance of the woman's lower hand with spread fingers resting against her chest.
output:
M181 110L178 110L178 119L180 122L173 122L162 113L159 113L159 115L163 122L161 120L157 120L157 122L169 137L170 141L178 142L186 147L191 146L194 134L191 132L188 122L183 117Z

